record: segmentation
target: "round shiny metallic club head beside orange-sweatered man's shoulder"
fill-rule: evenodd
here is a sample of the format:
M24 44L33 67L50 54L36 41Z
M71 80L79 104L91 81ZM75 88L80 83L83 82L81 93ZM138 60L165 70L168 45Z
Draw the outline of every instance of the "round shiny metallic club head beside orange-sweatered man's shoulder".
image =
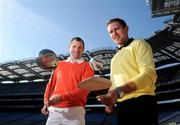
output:
M50 49L43 49L39 52L36 62L39 67L45 70L53 70L57 67L57 56Z

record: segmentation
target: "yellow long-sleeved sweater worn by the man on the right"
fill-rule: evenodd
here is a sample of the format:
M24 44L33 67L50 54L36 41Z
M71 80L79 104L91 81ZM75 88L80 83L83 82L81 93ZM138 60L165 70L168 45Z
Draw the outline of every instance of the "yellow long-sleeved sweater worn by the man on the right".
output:
M118 51L111 60L112 87L134 81L137 90L125 94L118 102L141 95L155 95L157 79L153 54L150 45L141 39L133 40Z

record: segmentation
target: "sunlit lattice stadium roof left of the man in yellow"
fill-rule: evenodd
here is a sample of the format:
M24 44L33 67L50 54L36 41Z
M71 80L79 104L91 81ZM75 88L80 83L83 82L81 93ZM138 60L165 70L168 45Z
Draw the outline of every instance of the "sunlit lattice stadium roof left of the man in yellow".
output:
M104 63L103 71L109 70L110 59L116 53L115 49L106 48L87 51L83 54L85 60L91 57L101 59ZM58 59L66 59L67 55L59 55ZM36 58L29 60L19 60L0 64L0 83L23 83L47 81L51 71L44 70L37 65Z

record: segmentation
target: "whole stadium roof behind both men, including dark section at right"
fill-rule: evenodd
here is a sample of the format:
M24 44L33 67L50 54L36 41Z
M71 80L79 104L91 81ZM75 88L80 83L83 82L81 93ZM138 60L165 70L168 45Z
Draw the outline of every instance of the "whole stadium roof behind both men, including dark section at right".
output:
M156 68L174 63L180 64L180 23L166 22L164 29L146 40L153 49ZM99 48L86 51L83 57L85 60L91 57L101 60L104 63L102 74L109 75L110 60L116 51L116 48ZM68 55L60 54L58 59L63 60L67 57ZM50 75L51 71L46 71L37 65L36 58L0 64L0 83L47 81Z

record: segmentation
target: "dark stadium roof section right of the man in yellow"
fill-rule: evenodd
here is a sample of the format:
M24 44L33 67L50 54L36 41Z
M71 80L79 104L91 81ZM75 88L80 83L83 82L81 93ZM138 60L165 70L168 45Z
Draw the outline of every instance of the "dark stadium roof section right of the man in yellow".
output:
M153 49L156 67L180 63L180 23L166 22L166 27L147 41Z

